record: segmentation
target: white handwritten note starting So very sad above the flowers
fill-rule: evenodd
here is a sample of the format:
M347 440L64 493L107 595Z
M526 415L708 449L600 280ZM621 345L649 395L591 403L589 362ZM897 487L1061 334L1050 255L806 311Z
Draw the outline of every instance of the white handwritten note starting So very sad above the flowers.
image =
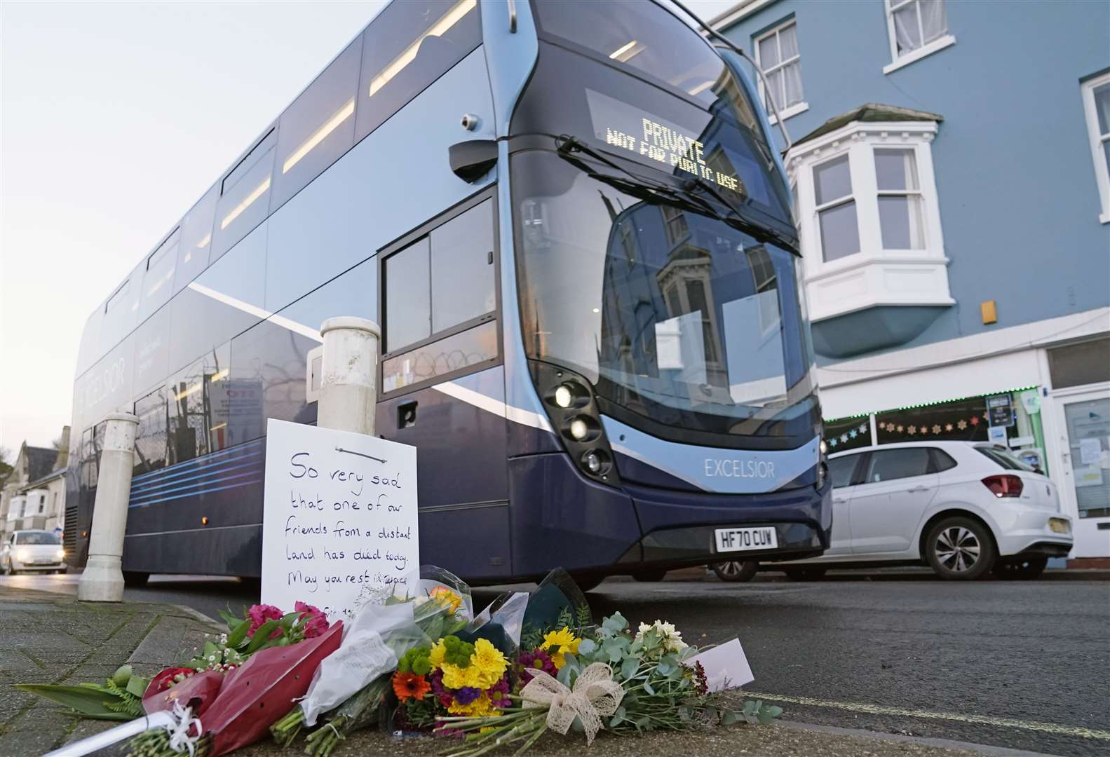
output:
M352 616L365 589L420 565L416 447L270 418L262 602Z

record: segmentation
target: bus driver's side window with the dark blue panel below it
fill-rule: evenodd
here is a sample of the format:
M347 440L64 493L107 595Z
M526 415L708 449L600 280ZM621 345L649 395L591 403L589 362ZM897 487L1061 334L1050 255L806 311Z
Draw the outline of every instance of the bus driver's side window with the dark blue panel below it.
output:
M421 552L508 576L505 382L492 191L379 254L376 430L416 447Z

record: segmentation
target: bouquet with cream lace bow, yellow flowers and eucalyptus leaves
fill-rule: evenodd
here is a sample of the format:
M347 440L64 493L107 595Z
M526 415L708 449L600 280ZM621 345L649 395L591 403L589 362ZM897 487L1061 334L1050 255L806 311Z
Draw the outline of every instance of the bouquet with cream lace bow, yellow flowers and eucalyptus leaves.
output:
M733 710L712 690L705 670L672 624L642 623L635 634L619 614L576 636L569 627L544 635L543 643L521 656L523 686L496 717L437 716L441 729L466 736L451 757L475 757L517 745L528 749L546 730L566 734L575 723L587 744L602 729L643 733L682 730L747 720L769 723L781 714L763 703ZM554 674L553 674L554 669Z

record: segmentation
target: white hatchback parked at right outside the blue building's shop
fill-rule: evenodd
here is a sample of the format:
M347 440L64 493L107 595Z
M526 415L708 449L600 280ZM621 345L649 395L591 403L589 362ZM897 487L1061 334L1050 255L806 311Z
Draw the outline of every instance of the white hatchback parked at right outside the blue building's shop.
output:
M764 569L811 581L831 566L924 562L941 578L971 581L990 572L1036 578L1049 557L1071 552L1071 518L1060 513L1056 485L1006 447L884 444L831 455L829 475L829 548Z

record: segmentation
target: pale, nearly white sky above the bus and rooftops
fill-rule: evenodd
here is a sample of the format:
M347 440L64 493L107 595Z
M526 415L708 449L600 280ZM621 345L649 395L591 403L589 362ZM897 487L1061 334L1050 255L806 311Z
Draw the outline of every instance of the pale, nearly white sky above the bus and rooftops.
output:
M0 6L0 447L59 436L89 313L383 4Z

